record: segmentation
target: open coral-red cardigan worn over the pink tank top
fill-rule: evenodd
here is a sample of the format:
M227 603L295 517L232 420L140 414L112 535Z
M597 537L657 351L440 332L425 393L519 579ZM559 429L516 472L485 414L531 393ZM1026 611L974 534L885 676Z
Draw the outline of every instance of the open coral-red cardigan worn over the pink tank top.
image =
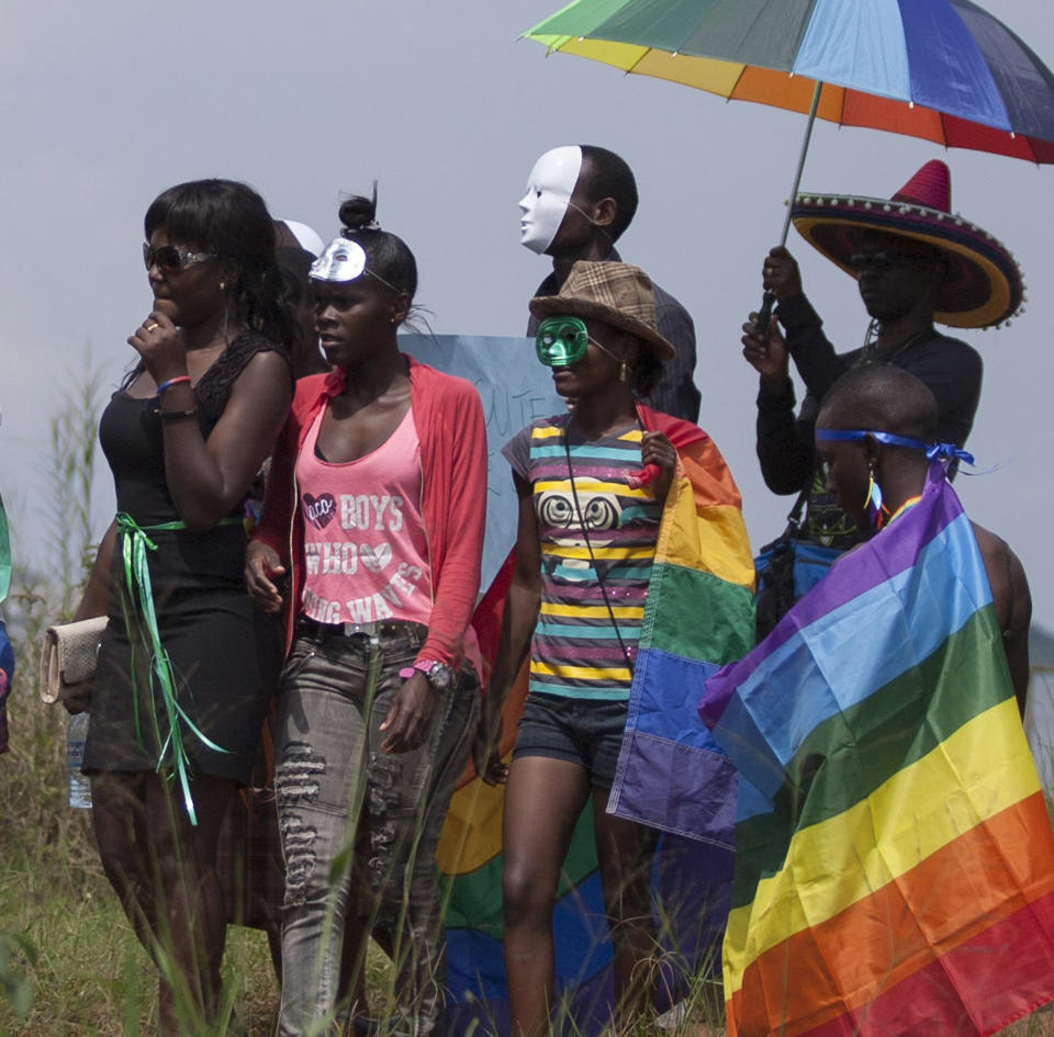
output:
M433 609L417 657L457 667L463 658L482 678L475 631L470 625L480 589L486 521L486 429L483 405L464 379L442 374L406 357L411 408L421 441L422 514L431 566ZM304 527L299 507L296 458L314 417L344 390L337 368L296 383L289 418L274 446L264 517L253 539L272 548L291 574L284 600L285 646L293 640L303 591Z

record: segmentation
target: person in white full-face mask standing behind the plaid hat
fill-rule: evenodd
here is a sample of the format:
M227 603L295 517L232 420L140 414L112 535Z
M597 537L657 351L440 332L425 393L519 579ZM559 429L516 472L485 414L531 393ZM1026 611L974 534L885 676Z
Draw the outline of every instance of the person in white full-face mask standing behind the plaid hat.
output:
M552 273L535 295L557 295L579 260L620 262L615 243L637 212L637 183L626 161L607 148L575 144L546 151L530 171L519 200L519 241L552 257ZM687 421L699 418L695 386L695 327L688 312L669 292L654 286L659 332L676 358L648 396L657 410ZM531 317L527 335L535 337Z

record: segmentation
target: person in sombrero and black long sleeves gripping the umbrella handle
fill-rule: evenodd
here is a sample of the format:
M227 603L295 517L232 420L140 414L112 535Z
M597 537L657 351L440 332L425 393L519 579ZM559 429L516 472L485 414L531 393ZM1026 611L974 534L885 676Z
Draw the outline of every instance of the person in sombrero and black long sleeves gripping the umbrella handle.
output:
M963 447L980 397L982 360L934 324L998 326L1020 308L1023 284L1007 248L952 213L951 177L939 160L922 166L890 199L799 194L792 218L810 245L856 280L872 318L867 340L851 352L834 351L794 257L776 247L762 270L763 288L777 300L776 320L762 336L751 315L743 356L761 375L758 455L765 483L778 494L808 491L801 539L839 551L867 531L815 480L812 427L827 391L856 364L892 363L937 397L940 440ZM807 388L797 416L788 358Z

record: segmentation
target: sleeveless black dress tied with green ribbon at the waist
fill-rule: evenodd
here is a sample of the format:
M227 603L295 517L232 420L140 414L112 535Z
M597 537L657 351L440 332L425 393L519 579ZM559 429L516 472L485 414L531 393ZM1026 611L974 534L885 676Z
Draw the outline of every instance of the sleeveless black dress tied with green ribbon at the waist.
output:
M194 386L204 437L218 421L246 363L257 352L276 349L262 336L244 332L205 372ZM179 519L165 480L157 406L154 397L136 399L116 392L99 425L116 485L117 511L144 529ZM232 518L242 514L239 506ZM147 564L160 642L171 660L177 701L186 713L179 729L188 770L245 784L267 700L278 683L283 641L278 619L258 612L246 594L244 526L220 525L206 533L146 532L157 546L146 552ZM152 672L149 639L139 633L142 609L128 590L124 539L119 533L113 553L110 622L99 651L83 769L154 770L160 759L161 771L170 774L169 723Z

